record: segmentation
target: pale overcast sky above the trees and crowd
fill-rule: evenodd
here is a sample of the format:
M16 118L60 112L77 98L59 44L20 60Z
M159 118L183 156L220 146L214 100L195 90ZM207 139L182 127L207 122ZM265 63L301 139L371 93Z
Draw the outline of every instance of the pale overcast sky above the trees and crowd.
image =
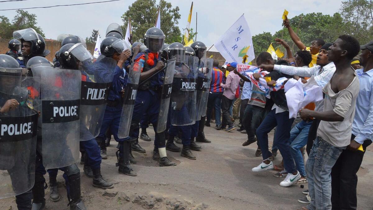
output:
M0 3L1 9L52 6L57 4L87 3L100 0L26 0ZM122 25L121 16L135 0L88 4L47 9L29 9L37 15L46 38L57 39L59 34L74 34L81 37L91 35L92 29L101 34L112 22ZM159 0L157 0L158 2ZM172 6L179 6L181 19L179 27L185 28L191 0L167 0ZM245 13L251 34L268 31L275 33L282 28L282 13L289 11L289 18L301 13L322 12L332 15L339 11L341 0L194 0L191 27L195 28L195 13L198 12L197 39L211 46L232 24ZM15 10L1 11L0 15L13 19ZM156 16L157 14L154 14ZM161 17L162 28L162 17ZM124 32L125 33L125 32ZM102 37L101 37L102 38Z

